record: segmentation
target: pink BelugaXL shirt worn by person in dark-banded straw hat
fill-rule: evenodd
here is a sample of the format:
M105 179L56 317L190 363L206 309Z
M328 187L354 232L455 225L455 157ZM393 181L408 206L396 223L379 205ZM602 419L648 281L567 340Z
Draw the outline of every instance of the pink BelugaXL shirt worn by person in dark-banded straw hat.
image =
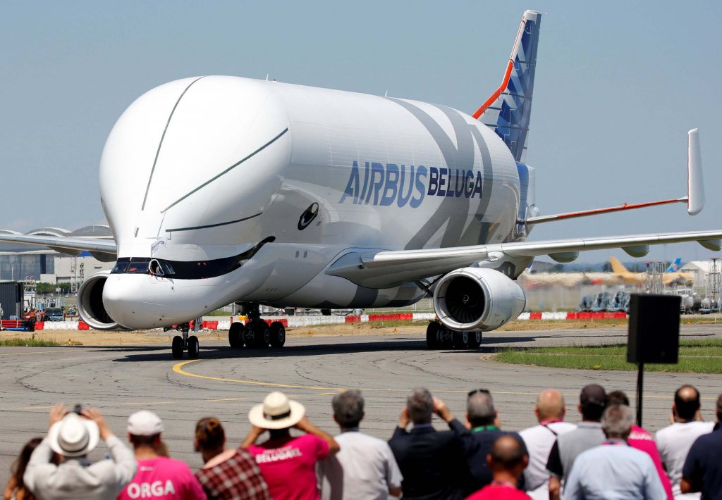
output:
M313 434L252 444L261 475L274 500L316 500L316 462L329 455L329 443Z

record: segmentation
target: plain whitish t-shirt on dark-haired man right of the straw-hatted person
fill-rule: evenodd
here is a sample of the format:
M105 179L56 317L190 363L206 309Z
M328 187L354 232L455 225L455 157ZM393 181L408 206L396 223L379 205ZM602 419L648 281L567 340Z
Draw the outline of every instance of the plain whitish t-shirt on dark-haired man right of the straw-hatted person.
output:
M386 441L359 431L334 439L341 451L320 462L323 500L385 500L388 488L401 486L401 470Z

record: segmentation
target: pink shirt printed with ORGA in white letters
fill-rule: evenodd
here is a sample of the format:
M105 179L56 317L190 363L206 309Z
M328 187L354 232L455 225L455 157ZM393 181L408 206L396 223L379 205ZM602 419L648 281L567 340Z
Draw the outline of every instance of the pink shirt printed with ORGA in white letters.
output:
M138 472L118 500L205 499L206 494L186 462L167 457L138 460Z

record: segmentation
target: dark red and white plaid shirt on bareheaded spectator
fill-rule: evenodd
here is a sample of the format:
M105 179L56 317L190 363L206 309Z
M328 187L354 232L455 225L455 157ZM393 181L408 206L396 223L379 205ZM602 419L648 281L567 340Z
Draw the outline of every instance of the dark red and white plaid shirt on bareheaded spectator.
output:
M196 473L209 499L271 500L269 488L245 449L237 449L225 462Z

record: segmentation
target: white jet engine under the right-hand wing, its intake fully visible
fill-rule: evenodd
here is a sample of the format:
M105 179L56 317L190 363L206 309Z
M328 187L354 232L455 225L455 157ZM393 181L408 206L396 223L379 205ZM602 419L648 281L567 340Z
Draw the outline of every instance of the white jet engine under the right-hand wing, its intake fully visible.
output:
M434 291L436 315L451 330L495 330L518 317L525 305L516 281L493 269L456 269Z

